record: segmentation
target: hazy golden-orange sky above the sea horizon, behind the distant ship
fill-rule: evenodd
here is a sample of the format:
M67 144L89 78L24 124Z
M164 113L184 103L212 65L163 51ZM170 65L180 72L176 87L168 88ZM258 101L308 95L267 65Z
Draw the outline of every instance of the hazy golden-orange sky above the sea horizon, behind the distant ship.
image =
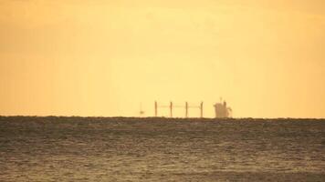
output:
M0 0L0 115L325 117L324 47L324 0Z

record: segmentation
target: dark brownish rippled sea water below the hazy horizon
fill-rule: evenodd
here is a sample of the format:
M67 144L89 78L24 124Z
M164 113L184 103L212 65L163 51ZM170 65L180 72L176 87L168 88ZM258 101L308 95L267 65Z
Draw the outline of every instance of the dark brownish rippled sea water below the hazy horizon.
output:
M325 121L0 117L0 181L325 181Z

